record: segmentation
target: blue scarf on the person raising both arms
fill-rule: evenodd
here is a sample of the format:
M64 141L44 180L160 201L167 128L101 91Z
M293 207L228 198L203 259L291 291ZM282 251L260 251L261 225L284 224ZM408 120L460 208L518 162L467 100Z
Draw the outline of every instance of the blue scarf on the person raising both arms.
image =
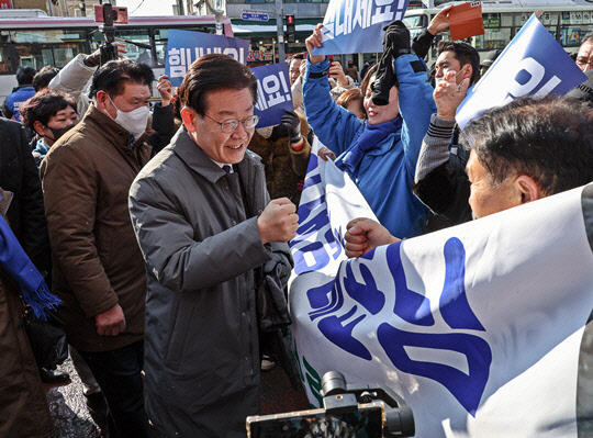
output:
M346 170L353 178L356 178L360 161L365 157L365 154L385 139L390 134L395 134L395 142L400 141L402 128L402 117L398 115L390 122L380 123L378 125L365 126L365 132L350 145L348 150L344 154L342 162L337 166L342 170Z

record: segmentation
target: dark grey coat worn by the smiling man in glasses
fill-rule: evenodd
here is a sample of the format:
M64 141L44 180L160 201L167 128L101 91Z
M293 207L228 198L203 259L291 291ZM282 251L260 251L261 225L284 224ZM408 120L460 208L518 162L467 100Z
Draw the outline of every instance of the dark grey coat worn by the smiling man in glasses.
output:
M259 158L247 150L236 170L181 127L130 190L148 276L146 411L167 437L245 437L259 411L254 269L291 259L259 236L269 201Z

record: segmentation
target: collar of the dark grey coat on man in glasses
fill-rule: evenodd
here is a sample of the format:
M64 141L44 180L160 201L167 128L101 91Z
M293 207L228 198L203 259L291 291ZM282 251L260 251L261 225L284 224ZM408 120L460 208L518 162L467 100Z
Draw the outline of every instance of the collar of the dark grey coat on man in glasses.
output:
M226 172L219 167L219 165L216 165L212 158L195 144L195 142L193 142L184 126L181 126L177 131L171 139L171 145L172 150L187 166L210 182L214 183L226 176ZM236 166L238 167L239 172L244 172L247 171L249 167L258 166L258 162L254 159L254 154L250 150L246 150L243 160Z

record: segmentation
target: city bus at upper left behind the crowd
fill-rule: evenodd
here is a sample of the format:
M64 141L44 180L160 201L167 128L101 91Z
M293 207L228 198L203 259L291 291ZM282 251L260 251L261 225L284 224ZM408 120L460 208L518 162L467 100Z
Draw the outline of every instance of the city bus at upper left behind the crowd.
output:
M91 18L47 16L40 11L29 11L32 16L1 18L2 12L0 102L16 86L19 66L36 70L44 66L61 68L79 53L92 53L104 41L99 24ZM21 14L26 15L27 11L21 10ZM169 29L216 33L216 21L214 15L130 16L127 24L115 24L115 41L125 43L128 58L150 65L158 77L165 68ZM222 19L222 32L233 36L226 16Z

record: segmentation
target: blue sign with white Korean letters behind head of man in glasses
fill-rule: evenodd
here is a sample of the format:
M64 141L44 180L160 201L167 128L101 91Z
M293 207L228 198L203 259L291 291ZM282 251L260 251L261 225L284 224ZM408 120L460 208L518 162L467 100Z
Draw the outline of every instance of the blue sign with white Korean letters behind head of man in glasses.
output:
M204 32L169 30L165 75L175 87L179 87L191 64L203 55L219 53L230 55L247 64L249 42Z

